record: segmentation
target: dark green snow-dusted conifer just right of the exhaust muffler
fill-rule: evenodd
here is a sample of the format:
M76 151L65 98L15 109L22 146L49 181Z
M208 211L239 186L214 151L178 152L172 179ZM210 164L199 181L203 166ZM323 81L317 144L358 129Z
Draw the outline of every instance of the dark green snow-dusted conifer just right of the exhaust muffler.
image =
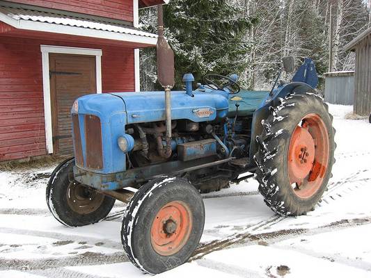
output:
M250 50L244 37L254 22L225 0L173 0L164 6L165 36L175 54L175 86L182 88L188 72L196 81L210 72L244 72Z

